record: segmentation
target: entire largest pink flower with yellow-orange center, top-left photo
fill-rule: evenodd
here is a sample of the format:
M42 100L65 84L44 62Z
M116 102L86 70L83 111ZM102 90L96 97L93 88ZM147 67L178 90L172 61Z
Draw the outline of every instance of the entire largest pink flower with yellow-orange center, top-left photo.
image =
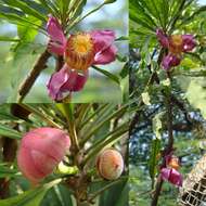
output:
M68 39L53 16L49 17L47 30L50 36L49 51L64 55L65 65L54 73L48 83L49 94L61 101L66 92L80 91L87 79L88 68L92 65L108 64L116 59L113 30L93 30L70 35Z

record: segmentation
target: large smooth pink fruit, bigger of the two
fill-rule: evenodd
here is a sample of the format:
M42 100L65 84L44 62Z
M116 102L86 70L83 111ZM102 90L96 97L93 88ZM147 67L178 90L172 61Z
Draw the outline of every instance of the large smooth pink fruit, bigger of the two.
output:
M17 164L34 184L41 181L59 165L70 146L69 137L61 129L42 127L23 137Z

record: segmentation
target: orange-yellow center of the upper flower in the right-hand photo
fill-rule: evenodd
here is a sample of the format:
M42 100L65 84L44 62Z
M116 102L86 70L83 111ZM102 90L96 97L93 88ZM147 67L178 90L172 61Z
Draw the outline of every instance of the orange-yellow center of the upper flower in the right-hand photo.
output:
M169 40L169 50L171 53L181 53L183 40L181 35L172 35Z

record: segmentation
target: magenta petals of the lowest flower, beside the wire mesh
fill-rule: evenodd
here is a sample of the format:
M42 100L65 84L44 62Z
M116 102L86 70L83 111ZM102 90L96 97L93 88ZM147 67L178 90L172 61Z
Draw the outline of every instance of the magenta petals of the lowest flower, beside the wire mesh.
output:
M177 186L182 185L182 176L173 168L162 168L160 177L163 180L169 181Z

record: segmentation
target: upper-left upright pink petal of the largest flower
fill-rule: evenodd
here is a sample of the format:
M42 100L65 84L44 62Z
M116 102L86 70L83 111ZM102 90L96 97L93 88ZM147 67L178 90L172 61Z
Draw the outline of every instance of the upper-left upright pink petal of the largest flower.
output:
M47 23L47 31L50 36L49 41L49 50L52 53L63 55L66 47L66 38L61 28L60 23L53 16L49 16L49 21Z

